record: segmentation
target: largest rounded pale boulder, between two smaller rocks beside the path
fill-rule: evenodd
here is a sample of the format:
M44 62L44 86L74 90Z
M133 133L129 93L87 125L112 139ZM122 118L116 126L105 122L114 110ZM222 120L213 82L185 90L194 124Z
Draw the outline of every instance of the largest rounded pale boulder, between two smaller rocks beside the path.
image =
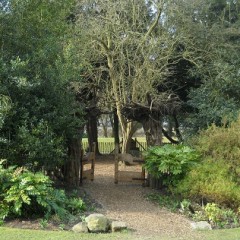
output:
M103 214L94 213L85 220L90 232L107 232L109 229L108 219Z

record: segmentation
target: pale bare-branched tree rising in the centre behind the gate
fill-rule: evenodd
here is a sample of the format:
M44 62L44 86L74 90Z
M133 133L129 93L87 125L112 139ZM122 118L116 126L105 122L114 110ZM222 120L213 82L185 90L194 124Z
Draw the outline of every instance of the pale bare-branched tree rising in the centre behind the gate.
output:
M169 24L174 14L179 16L175 5L165 0L82 0L78 4L77 29L83 40L79 51L83 58L98 63L91 74L105 90L105 102L116 109L122 152L129 150L134 118L143 124L149 144L160 145L163 115L179 109L178 98L157 88L179 59L194 62L187 47L176 51L186 36L177 34L174 21ZM143 118L134 116L135 107Z

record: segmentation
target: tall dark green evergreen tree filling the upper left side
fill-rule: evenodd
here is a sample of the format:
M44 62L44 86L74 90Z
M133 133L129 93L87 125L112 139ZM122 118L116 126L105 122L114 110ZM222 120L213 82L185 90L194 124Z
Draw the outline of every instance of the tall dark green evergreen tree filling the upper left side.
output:
M1 128L1 158L75 181L82 110L72 85L81 80L69 40L74 1L9 1L0 12L1 94L11 100ZM76 65L77 67L76 67Z

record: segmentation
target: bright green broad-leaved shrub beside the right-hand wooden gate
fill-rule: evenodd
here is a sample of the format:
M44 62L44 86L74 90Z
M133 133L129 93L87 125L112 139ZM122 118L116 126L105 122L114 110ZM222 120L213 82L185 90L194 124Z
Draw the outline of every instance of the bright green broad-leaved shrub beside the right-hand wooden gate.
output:
M184 145L150 147L145 152L146 170L165 186L175 186L199 159L196 150Z

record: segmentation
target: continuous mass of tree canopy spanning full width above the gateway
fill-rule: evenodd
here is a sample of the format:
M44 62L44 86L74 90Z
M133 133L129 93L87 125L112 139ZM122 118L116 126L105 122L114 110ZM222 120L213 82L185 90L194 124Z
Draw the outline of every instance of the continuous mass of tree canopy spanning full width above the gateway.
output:
M161 145L238 115L238 1L11 0L0 22L1 158L12 163L79 157L101 112L116 112L123 152L135 122Z

